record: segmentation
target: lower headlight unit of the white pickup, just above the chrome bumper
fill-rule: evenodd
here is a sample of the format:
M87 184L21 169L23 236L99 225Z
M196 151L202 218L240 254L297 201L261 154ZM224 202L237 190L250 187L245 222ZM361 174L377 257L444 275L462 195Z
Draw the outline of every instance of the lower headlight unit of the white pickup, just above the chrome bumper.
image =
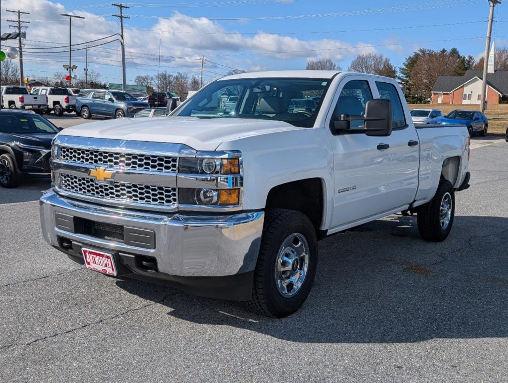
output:
M180 204L233 206L240 203L240 189L179 189Z

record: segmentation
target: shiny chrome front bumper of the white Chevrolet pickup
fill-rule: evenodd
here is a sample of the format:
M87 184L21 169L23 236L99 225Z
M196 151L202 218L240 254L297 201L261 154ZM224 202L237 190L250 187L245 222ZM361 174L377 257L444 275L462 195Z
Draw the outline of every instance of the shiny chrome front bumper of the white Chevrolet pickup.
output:
M158 272L184 277L230 276L252 271L257 262L264 212L233 215L148 213L78 202L48 190L40 200L44 239L61 248L57 237L105 251L153 257ZM103 224L150 230L153 249L126 245L62 230L55 213Z

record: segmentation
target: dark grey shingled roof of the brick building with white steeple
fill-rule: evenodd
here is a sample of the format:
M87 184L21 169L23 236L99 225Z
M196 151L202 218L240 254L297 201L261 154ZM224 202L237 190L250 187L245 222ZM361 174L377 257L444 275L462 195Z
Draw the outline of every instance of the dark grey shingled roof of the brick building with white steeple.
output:
M432 91L449 93L475 77L481 80L483 71L467 71L464 76L439 76ZM499 93L508 94L508 71L488 73L487 83Z

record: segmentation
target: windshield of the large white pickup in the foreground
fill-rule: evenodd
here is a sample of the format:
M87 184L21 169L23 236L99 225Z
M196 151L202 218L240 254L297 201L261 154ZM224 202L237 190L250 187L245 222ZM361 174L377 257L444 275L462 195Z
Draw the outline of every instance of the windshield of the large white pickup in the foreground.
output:
M324 97L330 79L251 78L219 80L173 114L198 118L255 118L312 127L319 113L312 98Z

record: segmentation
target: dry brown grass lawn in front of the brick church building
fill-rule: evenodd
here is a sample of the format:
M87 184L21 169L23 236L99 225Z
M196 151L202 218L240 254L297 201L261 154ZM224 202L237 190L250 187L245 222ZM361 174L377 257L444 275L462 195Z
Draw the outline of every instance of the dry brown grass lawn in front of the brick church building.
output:
M409 104L409 109L440 109L444 115L452 110L480 110L480 105L463 105L463 104ZM496 118L496 116L508 116L508 104L490 105L485 111L485 115L489 118L489 133L505 134L508 127L508 118Z

